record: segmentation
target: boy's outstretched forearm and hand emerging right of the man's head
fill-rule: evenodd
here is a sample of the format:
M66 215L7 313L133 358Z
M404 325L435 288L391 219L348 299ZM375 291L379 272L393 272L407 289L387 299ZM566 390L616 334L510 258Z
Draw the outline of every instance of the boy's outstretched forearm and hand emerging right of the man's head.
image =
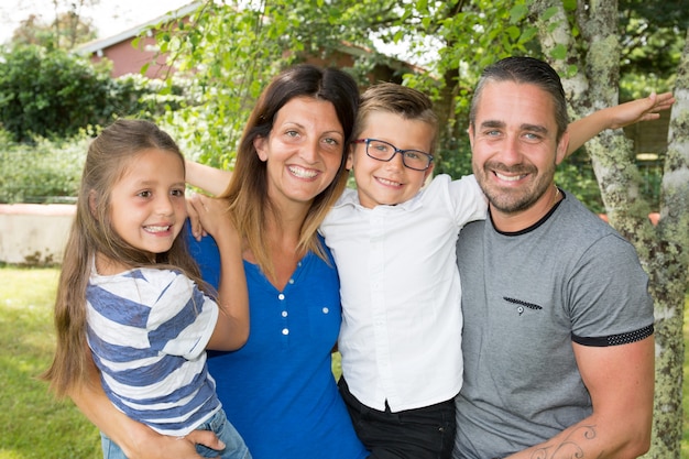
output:
M675 103L675 98L671 92L659 95L653 92L644 99L604 108L573 121L567 129L569 131L567 155L605 129L619 129L639 121L657 120L660 117L658 112L669 109L672 103Z

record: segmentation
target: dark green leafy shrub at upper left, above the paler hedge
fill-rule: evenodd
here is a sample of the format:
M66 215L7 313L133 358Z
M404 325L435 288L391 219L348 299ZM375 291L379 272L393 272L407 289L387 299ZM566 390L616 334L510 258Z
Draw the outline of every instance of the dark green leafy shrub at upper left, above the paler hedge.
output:
M0 54L0 125L15 142L69 139L88 125L155 118L182 103L182 88L141 75L110 77L108 63L62 50L18 45Z

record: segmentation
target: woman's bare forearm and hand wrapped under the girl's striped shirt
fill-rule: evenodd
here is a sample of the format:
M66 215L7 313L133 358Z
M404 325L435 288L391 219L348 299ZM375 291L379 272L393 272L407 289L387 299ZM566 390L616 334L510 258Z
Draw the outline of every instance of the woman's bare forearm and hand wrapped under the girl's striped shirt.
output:
M195 444L212 449L225 448L209 430L194 430L184 438L168 437L132 420L110 403L92 361L89 365L89 381L72 387L68 395L79 411L122 448L130 459L201 459L196 452Z

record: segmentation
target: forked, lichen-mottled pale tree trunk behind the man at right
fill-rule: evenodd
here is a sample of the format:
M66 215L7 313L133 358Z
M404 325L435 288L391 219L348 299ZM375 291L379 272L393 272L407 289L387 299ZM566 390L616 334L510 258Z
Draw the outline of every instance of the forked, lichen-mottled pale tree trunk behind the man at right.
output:
M620 48L616 1L579 3L576 12L581 31L575 39L559 0L537 0L533 12L546 9L558 13L538 24L545 55L558 45L567 46L564 59L551 65L564 76L562 84L577 118L617 103ZM584 41L576 46L576 40ZM572 50L587 50L577 55ZM586 64L582 64L586 63ZM577 73L567 72L576 65ZM683 302L689 286L689 34L678 70L669 147L663 176L660 221L648 220L650 206L641 197L641 175L633 159L631 141L622 130L605 131L587 144L601 196L611 225L630 240L649 276L655 302L656 389L653 442L645 456L679 458L682 431L681 382L683 365Z

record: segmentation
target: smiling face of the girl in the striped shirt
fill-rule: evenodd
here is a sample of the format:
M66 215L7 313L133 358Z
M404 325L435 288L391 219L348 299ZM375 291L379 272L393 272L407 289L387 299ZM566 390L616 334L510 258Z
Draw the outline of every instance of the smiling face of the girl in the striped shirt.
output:
M184 165L164 150L144 150L127 165L110 194L112 229L151 254L169 250L187 217Z

